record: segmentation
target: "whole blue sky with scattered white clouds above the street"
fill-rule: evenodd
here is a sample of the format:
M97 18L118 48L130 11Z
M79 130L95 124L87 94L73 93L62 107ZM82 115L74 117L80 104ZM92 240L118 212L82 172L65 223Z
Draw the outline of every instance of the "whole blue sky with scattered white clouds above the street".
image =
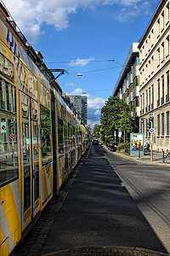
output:
M131 44L142 37L159 2L17 0L16 4L3 0L28 43L41 51L47 67L69 73L57 80L63 92L87 92L92 127L99 124L100 109L111 96Z

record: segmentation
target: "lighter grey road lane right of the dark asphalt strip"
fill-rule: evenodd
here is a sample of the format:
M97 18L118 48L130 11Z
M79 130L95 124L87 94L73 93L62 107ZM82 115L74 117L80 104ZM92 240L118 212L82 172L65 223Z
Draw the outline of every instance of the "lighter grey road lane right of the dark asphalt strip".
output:
M105 156L122 184L170 253L170 169L127 160L105 149Z

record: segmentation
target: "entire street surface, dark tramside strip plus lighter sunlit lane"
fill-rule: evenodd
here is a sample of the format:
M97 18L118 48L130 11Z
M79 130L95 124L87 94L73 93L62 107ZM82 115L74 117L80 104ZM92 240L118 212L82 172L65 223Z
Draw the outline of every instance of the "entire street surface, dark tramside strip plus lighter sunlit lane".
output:
M69 182L11 256L114 246L166 253L161 223L168 215L168 192L167 167L146 166L90 145ZM167 207L159 209L164 203Z

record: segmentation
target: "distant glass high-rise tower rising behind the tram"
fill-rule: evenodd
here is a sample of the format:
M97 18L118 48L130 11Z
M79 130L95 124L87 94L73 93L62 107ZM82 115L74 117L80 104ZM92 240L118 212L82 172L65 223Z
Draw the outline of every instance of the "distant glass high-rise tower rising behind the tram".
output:
M77 113L84 125L88 125L88 97L77 95L69 95L68 97L70 98L73 107L77 109Z

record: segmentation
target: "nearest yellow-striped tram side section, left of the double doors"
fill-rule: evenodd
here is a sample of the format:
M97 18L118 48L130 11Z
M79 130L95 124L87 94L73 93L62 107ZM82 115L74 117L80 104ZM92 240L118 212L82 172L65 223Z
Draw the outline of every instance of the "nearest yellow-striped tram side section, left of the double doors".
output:
M2 31L0 21L0 31ZM0 42L0 62L8 64L8 73L1 69L0 91L0 255L8 255L21 238L21 172L19 92L14 83L14 63L10 50Z

